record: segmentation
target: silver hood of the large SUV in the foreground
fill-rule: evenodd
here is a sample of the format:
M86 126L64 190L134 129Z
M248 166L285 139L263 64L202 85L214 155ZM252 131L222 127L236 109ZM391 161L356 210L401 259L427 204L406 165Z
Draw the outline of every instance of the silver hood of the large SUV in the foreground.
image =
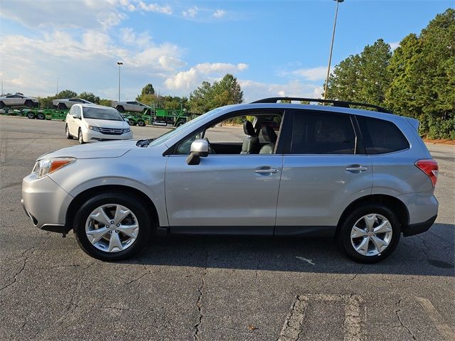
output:
M42 158L118 158L132 148L139 148L136 146L136 142L137 140L120 140L82 144L43 154L37 160Z

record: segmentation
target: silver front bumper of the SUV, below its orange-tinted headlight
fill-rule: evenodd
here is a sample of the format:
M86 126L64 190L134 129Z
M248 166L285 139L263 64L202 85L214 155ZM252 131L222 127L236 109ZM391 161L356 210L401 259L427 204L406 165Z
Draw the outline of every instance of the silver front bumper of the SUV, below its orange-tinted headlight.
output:
M73 197L48 176L30 174L22 180L22 207L33 225L46 231L66 233L66 211Z

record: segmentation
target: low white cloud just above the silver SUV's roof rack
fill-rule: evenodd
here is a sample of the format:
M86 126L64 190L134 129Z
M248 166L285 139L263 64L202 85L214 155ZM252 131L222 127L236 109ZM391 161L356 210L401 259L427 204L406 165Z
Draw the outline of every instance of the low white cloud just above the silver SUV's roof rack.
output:
M322 88L315 84L291 80L286 84L269 84L253 80L239 80L245 102L252 102L265 97L309 97L320 98Z

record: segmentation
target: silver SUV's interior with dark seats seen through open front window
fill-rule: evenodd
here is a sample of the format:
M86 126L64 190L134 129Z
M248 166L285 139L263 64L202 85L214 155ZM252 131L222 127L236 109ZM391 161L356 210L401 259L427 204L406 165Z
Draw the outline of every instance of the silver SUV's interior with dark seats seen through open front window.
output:
M191 143L196 139L207 140L211 154L272 154L275 151L281 123L281 113L231 117L181 141L176 146L176 154L188 155ZM232 128L232 134L226 132L223 134L220 126L229 126Z

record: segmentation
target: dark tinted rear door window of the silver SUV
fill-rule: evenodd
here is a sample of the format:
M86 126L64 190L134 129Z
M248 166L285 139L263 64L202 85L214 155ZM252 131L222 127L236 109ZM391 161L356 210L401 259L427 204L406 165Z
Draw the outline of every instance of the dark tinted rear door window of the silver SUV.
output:
M323 112L296 112L291 154L353 154L355 133L350 117Z

